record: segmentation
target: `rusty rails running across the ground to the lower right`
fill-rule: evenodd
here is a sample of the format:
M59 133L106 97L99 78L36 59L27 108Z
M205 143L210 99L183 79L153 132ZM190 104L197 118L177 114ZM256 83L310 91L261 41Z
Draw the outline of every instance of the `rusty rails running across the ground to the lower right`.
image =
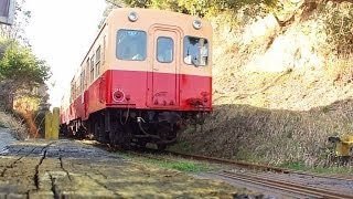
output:
M173 161L173 158L171 157L156 156L154 154L151 155L151 154L145 154L140 151L129 151L129 153L132 155L142 156L146 158ZM288 175L296 174L296 175L302 175L307 177L325 178L330 180L332 179L353 180L351 177L345 177L345 176L300 172L300 171L279 168L279 167L247 164L247 163L234 161L234 160L222 159L222 158L212 158L212 157L199 156L199 155L189 155L189 154L181 154L181 153L174 153L174 151L165 151L165 154L176 156L176 157L182 157L185 159L192 159L192 160L227 164L227 165L245 168L248 170L272 171L277 174L280 172L280 174L288 174ZM329 188L322 188L322 187L312 187L309 185L304 185L306 184L304 181L291 182L291 181L288 181L288 179L286 180L286 178L278 178L271 175L261 175L256 172L239 174L231 170L222 170L221 172L212 172L212 174L215 176L220 176L222 178L226 178L227 180L235 180L235 181L240 181L242 184L256 185L264 188L276 189L277 191L279 190L288 193L290 192L295 196L302 196L304 198L308 198L308 197L309 198L333 198L333 199L353 198L353 193L346 192L344 189L338 190L332 188L329 189Z

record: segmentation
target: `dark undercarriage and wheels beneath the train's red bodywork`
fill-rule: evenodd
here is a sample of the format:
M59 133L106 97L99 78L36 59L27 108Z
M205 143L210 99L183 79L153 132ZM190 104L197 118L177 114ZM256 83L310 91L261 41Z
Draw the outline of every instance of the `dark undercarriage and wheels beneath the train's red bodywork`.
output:
M61 125L65 136L94 139L129 149L154 144L159 150L176 142L176 134L188 124L202 124L204 112L172 112L107 108L89 115L87 121Z

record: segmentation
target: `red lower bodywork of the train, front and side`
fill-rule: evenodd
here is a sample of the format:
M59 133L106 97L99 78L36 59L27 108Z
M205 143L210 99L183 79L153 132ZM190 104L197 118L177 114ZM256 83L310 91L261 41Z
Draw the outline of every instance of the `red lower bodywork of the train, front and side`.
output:
M211 111L211 76L109 70L62 111L61 124L85 121L106 107Z

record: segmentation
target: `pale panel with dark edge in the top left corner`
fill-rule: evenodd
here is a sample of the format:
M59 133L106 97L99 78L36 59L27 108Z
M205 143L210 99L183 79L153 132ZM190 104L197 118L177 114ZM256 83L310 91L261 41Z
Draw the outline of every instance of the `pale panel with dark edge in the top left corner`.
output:
M0 24L12 25L15 0L0 0Z

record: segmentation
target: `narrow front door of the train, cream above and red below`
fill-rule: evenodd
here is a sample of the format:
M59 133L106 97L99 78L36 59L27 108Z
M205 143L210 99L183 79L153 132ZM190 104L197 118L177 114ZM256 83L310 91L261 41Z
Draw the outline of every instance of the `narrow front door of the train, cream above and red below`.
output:
M150 107L175 107L179 105L180 32L154 28L152 35L147 104Z

